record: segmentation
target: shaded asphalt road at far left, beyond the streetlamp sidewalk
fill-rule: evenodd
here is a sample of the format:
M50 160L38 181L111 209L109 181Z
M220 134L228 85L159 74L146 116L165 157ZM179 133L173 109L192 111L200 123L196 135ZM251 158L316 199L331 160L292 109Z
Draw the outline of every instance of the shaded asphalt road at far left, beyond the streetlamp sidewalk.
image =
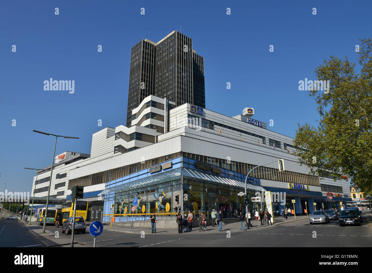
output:
M0 220L0 247L44 247L42 238L34 236L16 219Z

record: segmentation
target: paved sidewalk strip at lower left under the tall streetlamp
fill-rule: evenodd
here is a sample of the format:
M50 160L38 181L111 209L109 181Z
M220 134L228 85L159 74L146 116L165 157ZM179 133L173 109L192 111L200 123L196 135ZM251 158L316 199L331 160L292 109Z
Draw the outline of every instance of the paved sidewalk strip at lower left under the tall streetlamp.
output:
M45 229L45 233L43 232L43 226L39 224L39 221L37 222L31 222L31 225L29 225L29 221L26 220L18 220L18 222L21 222L25 227L32 233L32 235L35 236L42 236L45 237L45 240L42 240L41 243L45 247L70 247L71 244L71 237L70 236L62 236L65 234L58 234L58 238L55 238L55 233L50 232L47 229ZM83 245L78 244L77 241L74 240L74 247L85 247Z

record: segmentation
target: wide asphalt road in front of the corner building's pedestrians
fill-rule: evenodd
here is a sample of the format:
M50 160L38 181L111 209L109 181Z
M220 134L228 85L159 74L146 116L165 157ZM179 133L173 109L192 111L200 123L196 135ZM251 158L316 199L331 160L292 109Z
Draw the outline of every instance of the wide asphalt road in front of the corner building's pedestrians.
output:
M226 225L223 232L211 232L218 228L208 227L209 230L204 232L193 229L183 234L169 234L167 231L151 234L150 228L144 228L144 238L141 234L103 231L97 237L96 247L370 247L372 231L368 222L372 222L372 216L371 213L363 213L362 216L364 223L360 227L339 227L338 221L310 225L308 219L303 219L247 231ZM61 233L61 227L48 226L47 229L60 231L60 238L71 238L71 235ZM93 237L88 228L86 234L75 234L75 240L86 247L93 247Z

